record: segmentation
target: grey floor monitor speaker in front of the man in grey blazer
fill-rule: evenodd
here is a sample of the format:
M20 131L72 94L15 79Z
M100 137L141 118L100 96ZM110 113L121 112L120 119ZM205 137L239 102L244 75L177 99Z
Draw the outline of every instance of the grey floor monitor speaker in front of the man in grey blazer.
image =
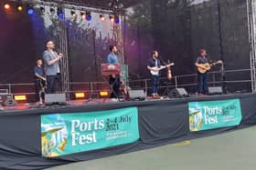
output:
M46 94L46 105L66 105L66 94Z

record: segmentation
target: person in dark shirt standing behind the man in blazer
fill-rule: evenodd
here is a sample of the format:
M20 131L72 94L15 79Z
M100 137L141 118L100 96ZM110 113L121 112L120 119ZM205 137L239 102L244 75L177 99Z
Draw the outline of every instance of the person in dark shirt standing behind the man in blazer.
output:
M43 104L44 100L44 87L46 85L45 68L43 67L42 59L37 59L37 65L34 67L36 100L39 105Z

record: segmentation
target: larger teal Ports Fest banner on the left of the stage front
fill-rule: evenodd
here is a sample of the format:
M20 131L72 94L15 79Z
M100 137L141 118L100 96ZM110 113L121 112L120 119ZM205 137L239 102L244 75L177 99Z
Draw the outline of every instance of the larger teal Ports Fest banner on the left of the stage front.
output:
M41 115L41 149L45 157L129 144L138 139L137 107Z

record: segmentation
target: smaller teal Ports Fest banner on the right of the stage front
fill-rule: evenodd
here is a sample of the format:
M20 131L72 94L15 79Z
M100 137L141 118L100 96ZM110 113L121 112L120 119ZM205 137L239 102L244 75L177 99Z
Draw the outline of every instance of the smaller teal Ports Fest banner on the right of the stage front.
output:
M189 102L190 131L240 125L240 100Z

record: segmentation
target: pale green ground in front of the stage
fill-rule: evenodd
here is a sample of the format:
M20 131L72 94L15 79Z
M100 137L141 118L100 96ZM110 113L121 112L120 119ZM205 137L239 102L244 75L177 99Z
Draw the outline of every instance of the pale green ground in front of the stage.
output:
M48 170L255 170L256 126Z

